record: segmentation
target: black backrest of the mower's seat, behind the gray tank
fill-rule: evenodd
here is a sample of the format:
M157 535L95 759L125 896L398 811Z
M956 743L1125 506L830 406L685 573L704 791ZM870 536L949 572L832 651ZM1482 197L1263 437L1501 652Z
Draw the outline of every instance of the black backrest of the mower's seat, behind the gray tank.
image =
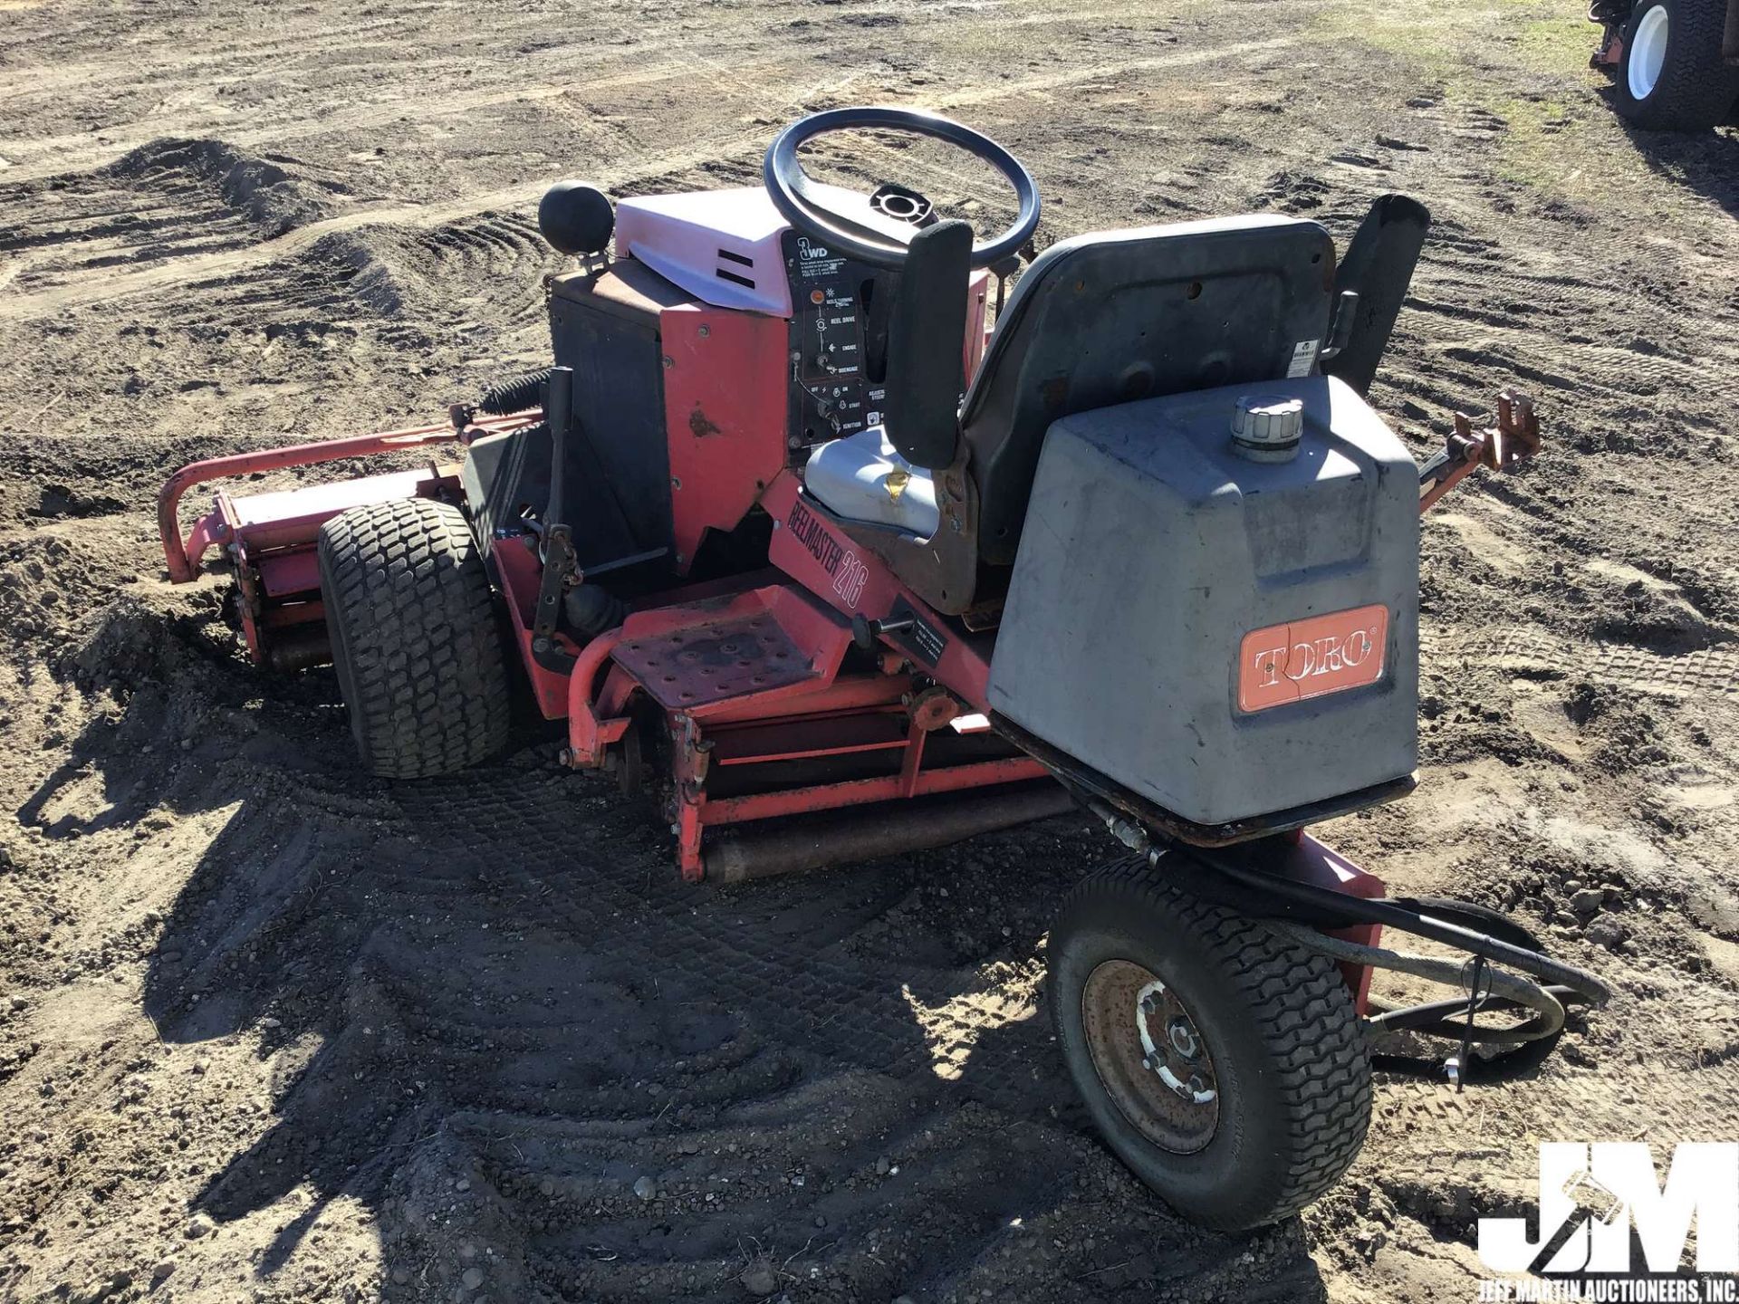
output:
M1104 231L1047 249L1016 285L962 407L979 558L1014 563L1052 421L1304 376L1332 299L1334 242L1296 217Z

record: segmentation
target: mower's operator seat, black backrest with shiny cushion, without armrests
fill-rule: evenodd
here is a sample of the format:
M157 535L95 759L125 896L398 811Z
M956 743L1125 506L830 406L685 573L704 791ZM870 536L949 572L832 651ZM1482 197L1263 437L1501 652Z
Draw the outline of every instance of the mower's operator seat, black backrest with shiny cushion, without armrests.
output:
M965 278L962 257L962 304ZM901 355L958 356L958 334L903 348L896 316L889 429L817 447L805 487L925 602L970 612L1000 602L1007 588L1050 422L1304 376L1329 334L1332 303L1334 242L1311 221L1223 217L1063 240L1031 263L998 318L960 407L949 462L927 473L901 457L892 388Z

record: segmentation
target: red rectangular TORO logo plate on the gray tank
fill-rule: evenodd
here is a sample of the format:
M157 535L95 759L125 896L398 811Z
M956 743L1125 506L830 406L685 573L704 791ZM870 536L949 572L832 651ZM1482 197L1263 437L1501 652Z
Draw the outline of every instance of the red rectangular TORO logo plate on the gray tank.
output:
M1376 683L1388 635L1389 609L1381 603L1252 629L1238 645L1238 709Z

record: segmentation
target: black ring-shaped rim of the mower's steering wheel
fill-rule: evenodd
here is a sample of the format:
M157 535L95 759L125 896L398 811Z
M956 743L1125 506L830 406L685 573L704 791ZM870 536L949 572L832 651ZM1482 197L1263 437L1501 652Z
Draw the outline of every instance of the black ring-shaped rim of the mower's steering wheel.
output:
M835 186L821 186L803 172L796 158L796 150L805 141L828 132L875 127L880 130L909 132L913 136L934 136L965 150L974 158L981 158L995 167L1014 188L1021 210L1014 224L995 240L979 240L972 245L972 266L988 268L991 263L1005 259L1024 245L1038 228L1038 186L1033 174L1021 160L1003 150L988 136L962 127L937 113L901 108L843 108L810 113L798 118L767 146L767 162L762 176L774 207L803 235L821 240L830 250L836 250L859 263L875 268L899 269L906 261L906 243L918 233L918 228L896 217L883 217L868 203L852 216L830 209L821 202L821 193Z

